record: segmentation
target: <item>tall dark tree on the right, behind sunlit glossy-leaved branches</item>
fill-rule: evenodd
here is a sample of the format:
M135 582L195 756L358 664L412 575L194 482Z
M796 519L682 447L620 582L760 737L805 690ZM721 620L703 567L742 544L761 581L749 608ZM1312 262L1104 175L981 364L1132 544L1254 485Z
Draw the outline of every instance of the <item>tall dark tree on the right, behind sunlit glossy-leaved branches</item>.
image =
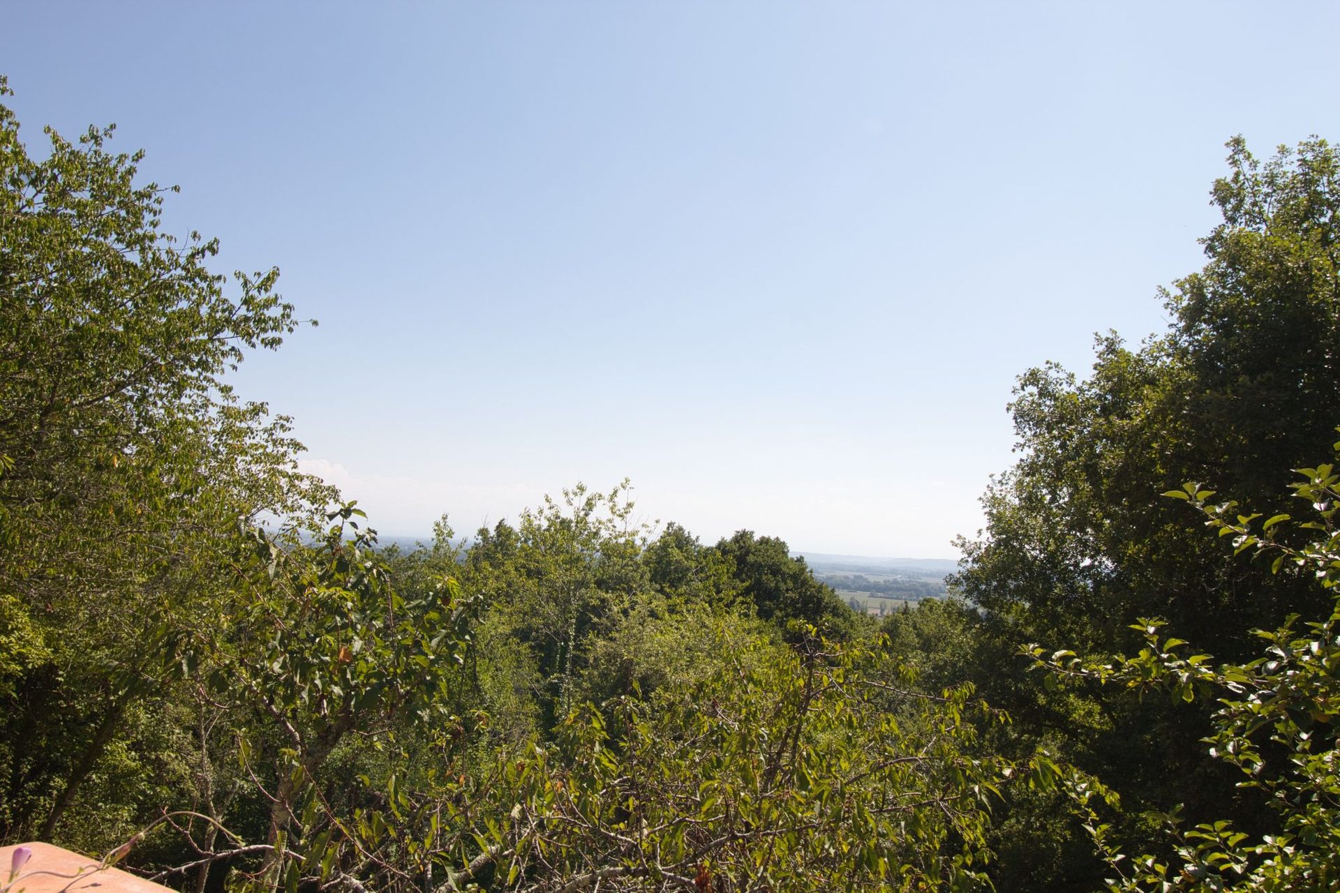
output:
M1053 364L1020 378L1020 459L988 489L986 527L961 542L954 580L985 611L982 653L1022 641L1112 653L1138 647L1136 617L1158 616L1195 629L1221 659L1248 660L1246 631L1323 609L1305 581L1225 562L1156 497L1215 481L1266 514L1284 511L1273 482L1324 449L1335 424L1340 154L1312 139L1260 162L1234 139L1227 163L1211 190L1222 221L1202 240L1205 268L1162 293L1168 331L1138 348L1100 337L1083 380ZM1124 831L1136 834L1140 811L1167 795L1197 821L1265 821L1249 795L1225 799L1225 768L1198 747L1207 707L1193 718L1116 689L1045 692L1018 672L963 673L1020 719L1020 747L1051 742L1120 790ZM1041 830L1029 847L1061 839L1043 814L1030 823ZM1079 853L1080 842L1065 846ZM1100 866L1065 862L1056 882L1099 880Z

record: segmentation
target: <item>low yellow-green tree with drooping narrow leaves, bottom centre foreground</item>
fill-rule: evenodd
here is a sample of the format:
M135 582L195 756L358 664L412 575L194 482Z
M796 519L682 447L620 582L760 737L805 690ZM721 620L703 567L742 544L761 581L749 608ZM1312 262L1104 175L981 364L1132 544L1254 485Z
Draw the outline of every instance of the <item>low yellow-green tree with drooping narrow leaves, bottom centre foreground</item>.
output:
M792 648L718 625L720 667L650 698L575 710L552 744L515 756L480 790L472 809L484 829L457 835L449 884L981 888L989 803L1060 770L980 754L973 720L1002 718L970 688L923 698L898 681L882 643L813 633ZM891 716L899 700L915 722Z

